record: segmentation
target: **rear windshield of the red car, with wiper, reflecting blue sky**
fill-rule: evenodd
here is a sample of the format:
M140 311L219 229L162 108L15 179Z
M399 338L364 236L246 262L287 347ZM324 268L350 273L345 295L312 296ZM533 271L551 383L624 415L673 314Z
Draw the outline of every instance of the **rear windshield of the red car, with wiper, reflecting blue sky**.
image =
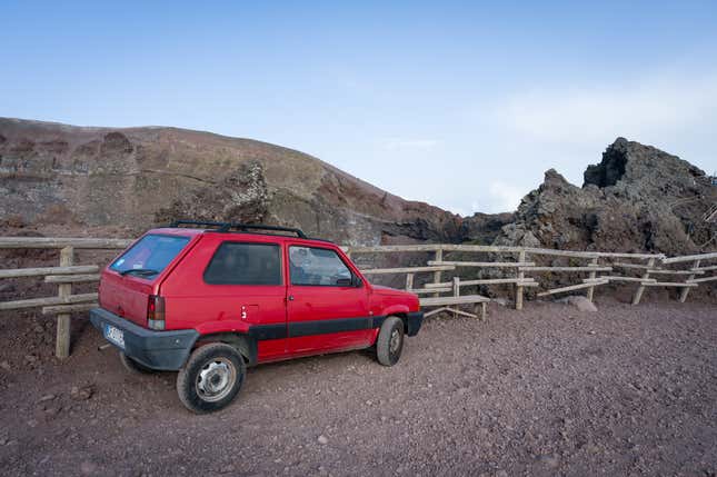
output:
M155 277L161 274L188 242L189 237L146 235L114 260L110 269L122 275Z

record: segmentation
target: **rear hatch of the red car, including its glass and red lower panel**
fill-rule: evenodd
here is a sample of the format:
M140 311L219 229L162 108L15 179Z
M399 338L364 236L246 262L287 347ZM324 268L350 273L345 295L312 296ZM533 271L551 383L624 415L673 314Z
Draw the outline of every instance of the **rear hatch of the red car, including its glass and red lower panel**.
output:
M181 259L191 239L189 235L145 235L102 271L100 307L147 327L149 297Z

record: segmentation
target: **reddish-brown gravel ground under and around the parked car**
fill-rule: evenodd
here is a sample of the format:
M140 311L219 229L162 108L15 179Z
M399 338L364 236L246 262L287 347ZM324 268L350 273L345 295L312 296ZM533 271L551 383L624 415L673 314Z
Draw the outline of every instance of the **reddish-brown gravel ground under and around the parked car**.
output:
M175 374L130 376L76 319L0 320L3 475L685 475L717 471L717 306L491 304L429 319L401 361L348 352L249 370L189 414Z

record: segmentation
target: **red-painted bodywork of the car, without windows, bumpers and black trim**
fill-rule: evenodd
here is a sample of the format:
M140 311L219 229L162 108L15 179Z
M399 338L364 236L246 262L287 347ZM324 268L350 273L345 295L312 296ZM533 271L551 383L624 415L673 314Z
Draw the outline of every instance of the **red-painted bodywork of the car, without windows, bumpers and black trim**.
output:
M158 276L142 278L107 267L100 281L100 306L147 327L150 295L165 300L167 330L196 329L200 335L247 334L250 327L316 322L342 318L379 317L418 311L418 297L374 286L333 244L258 233L231 233L185 228L155 229L148 233L189 237L189 244ZM266 242L281 247L281 285L209 285L203 274L225 241ZM333 250L362 284L359 287L293 286L289 277L289 246ZM291 299L290 299L291 298ZM268 339L258 342L258 360L360 349L372 346L378 329Z

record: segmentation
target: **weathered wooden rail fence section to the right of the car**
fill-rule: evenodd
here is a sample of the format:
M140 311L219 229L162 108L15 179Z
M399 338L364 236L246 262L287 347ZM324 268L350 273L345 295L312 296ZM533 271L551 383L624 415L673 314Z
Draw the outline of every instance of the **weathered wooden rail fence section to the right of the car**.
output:
M633 305L638 305L646 287L675 287L680 288L680 301L687 299L690 288L701 282L717 280L717 266L705 266L708 260L717 260L717 252L667 258L661 254L623 254L604 251L572 251L552 250L528 247L498 247L478 245L410 245L410 246L377 246L377 247L345 247L347 254L356 258L360 254L410 254L422 252L432 255L427 260L427 266L382 268L362 270L365 275L388 275L406 274L406 289L419 296L432 295L438 297L440 292L452 292L454 297L459 296L460 287L477 287L490 285L512 285L515 288L515 307L521 310L524 307L524 292L526 287L540 287L539 278L554 279L559 275L582 276L580 281L537 292L538 297L565 294L568 291L586 290L587 298L592 301L595 288L616 282L636 282L637 290L633 297ZM476 254L488 256L481 261L451 260L445 258L447 252ZM498 257L496 259L495 257ZM538 260L546 259L569 259L572 264L562 265L538 265ZM670 268L673 264L683 265L689 262L687 269ZM458 275L461 268L499 269L504 274L499 278L469 279L462 280L454 277L452 282L442 281L441 276L446 271ZM415 287L416 274L432 272L432 280L425 282L422 287ZM706 275L713 272L711 275ZM659 277L655 278L655 276ZM678 279L666 280L663 277L686 277L684 281ZM458 280L456 280L458 278ZM550 280L551 281L551 280ZM478 297L478 295L476 295ZM447 298L447 297L446 297ZM431 300L421 302L434 304Z

